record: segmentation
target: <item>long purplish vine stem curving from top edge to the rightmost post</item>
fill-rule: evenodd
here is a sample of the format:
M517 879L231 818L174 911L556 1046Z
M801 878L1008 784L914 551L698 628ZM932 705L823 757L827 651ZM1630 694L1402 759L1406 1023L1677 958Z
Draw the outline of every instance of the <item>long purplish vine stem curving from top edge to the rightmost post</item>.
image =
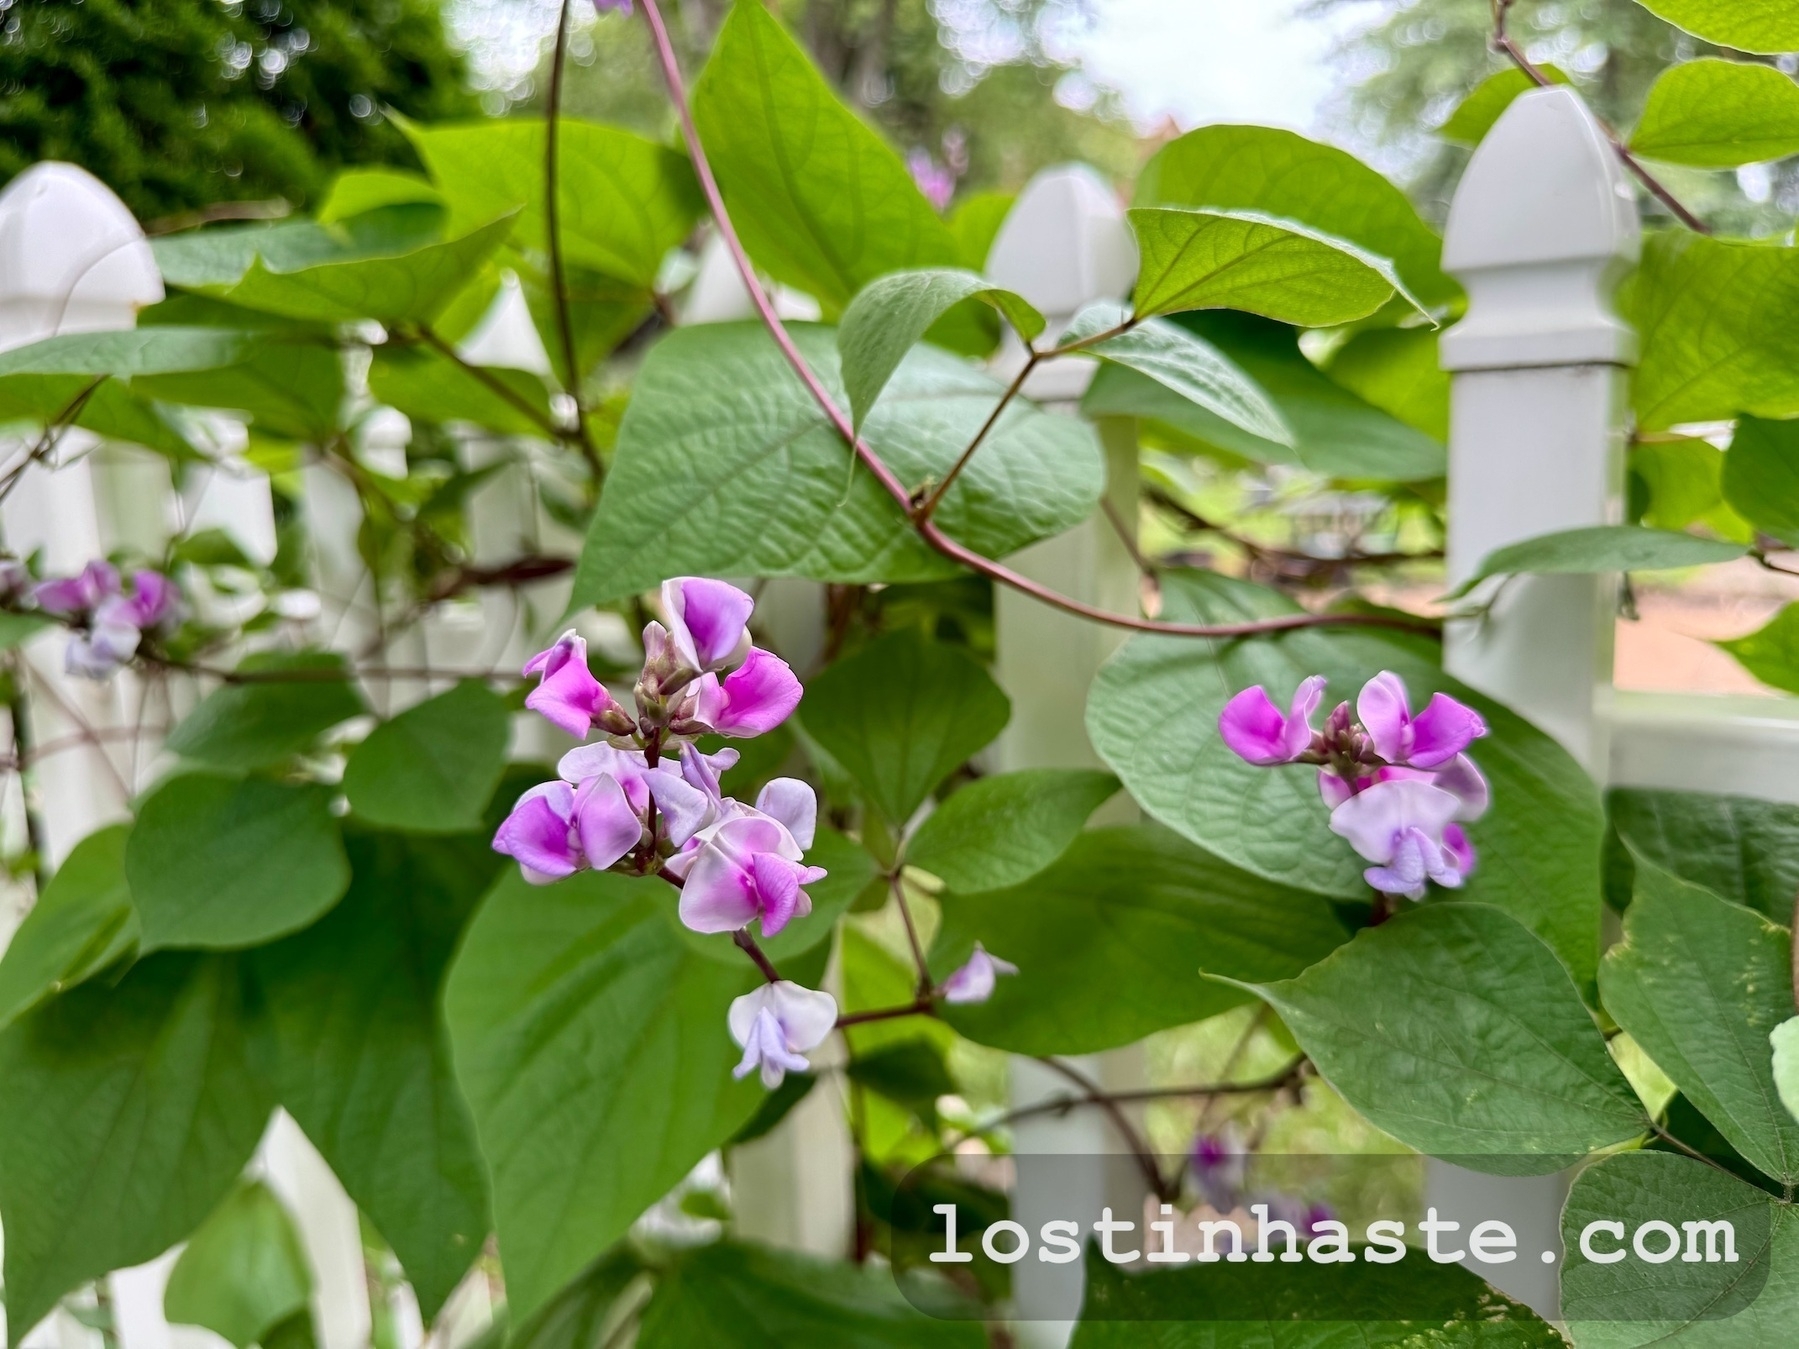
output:
M844 444L851 446L856 459L869 469L882 489L905 511L912 514L912 493L903 482L887 468L885 460L856 433L855 423L849 415L837 406L837 399L824 387L813 369L806 363L799 347L793 345L792 335L786 331L786 324L781 322L781 315L775 313L774 304L768 299L768 291L763 288L761 279L756 275L756 268L750 263L750 255L743 248L743 241L738 237L736 227L730 223L730 212L725 209L725 198L718 189L718 178L712 176L712 165L705 156L705 146L700 144L700 131L693 121L693 106L687 101L687 86L680 74L680 61L675 58L675 45L669 41L667 27L662 22L662 9L657 0L644 0L644 18L649 23L649 32L655 38L657 59L662 65L662 77L667 83L669 101L675 104L675 115L680 121L682 138L687 142L687 153L693 156L694 176L700 180L700 191L705 194L707 205L712 210L712 221L718 225L718 234L725 241L725 248L730 254L732 264L738 268L738 275L743 279L743 288L750 293L750 302L756 306L756 313L761 317L763 326L768 329L786 363L793 367L793 374L799 376L806 392L824 412L826 419L844 439ZM1094 338L1097 340L1097 338ZM1385 613L1292 613L1279 619L1258 619L1254 622L1159 622L1157 619L1142 619L1130 613L1112 613L1110 610L1097 608L1094 604L1083 604L1070 595L1063 595L1045 585L1033 581L1009 567L993 561L953 538L944 534L935 520L914 520L912 523L917 536L935 549L939 554L950 561L961 563L962 567L977 572L989 581L1009 586L1024 595L1031 595L1051 608L1061 610L1063 613L1072 613L1078 619L1088 619L1092 622L1103 622L1112 628L1128 628L1132 631L1142 633L1162 633L1164 637L1256 637L1259 633L1279 633L1290 631L1293 628L1398 628L1401 631L1427 631L1436 633L1437 624L1425 619L1405 619L1398 615Z

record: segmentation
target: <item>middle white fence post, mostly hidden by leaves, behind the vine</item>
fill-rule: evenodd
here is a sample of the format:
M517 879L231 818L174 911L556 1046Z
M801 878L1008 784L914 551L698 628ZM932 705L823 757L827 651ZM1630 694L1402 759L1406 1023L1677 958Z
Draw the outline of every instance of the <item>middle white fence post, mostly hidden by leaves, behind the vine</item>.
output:
M1092 300L1119 299L1137 275L1137 250L1124 225L1124 210L1112 187L1085 165L1040 173L1020 194L988 254L995 284L1024 295L1049 318L1045 342ZM1007 333L993 362L998 378L1011 378L1024 362L1024 347ZM1024 394L1042 406L1076 414L1092 380L1090 362L1056 362L1033 372ZM1132 558L1137 527L1137 428L1132 421L1105 421L1099 441L1106 455L1106 498L1101 511L1058 538L1024 549L1007 563L1025 576L1117 613L1137 613L1141 576ZM1110 518L1108 518L1110 516ZM1124 534L1132 540L1126 543ZM1121 635L1083 619L1051 610L1004 586L993 592L997 628L997 676L1011 696L1011 723L1000 736L998 766L1097 768L1099 755L1087 741L1087 691ZM1128 802L1112 808L1130 811ZM1004 951L1000 951L1004 955ZM1142 1054L1135 1049L1072 1059L1103 1086L1137 1086ZM1013 1108L1065 1095L1069 1083L1042 1063L1015 1056L1011 1061ZM1092 1164L1054 1162L1020 1166L1013 1218L1027 1230L1051 1218L1092 1214L1114 1196L1135 1194L1137 1175L1119 1157L1124 1140L1097 1110L1040 1115L1020 1121L1013 1131L1018 1157L1079 1157ZM1034 1175L1033 1175L1034 1169ZM1132 1221L1137 1203L1124 1205ZM1013 1302L1018 1311L1018 1342L1029 1349L1060 1349L1079 1315L1078 1264L1052 1266L1025 1261L1013 1266Z

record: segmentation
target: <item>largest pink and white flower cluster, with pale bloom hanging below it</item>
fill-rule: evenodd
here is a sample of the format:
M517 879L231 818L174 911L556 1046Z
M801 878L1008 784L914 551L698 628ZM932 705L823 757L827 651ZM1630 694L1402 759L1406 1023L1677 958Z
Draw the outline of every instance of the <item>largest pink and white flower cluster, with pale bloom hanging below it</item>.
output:
M732 585L676 577L662 586L666 622L644 628L644 667L626 709L586 664L586 642L567 631L525 666L538 685L525 707L577 739L556 781L531 788L493 838L527 881L577 871L662 876L680 889L680 921L694 932L774 937L811 912L808 867L819 799L795 777L768 782L756 804L723 795L732 748L702 754L700 736L736 739L774 730L799 705L801 685L779 657L750 642L754 601ZM761 1070L775 1086L804 1067L837 1023L828 993L786 980L732 1004L743 1045L738 1076Z

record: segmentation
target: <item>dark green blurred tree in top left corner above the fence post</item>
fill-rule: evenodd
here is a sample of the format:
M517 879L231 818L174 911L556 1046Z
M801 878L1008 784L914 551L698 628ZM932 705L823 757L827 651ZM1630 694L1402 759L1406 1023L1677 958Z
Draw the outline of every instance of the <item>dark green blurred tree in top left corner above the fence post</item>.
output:
M342 164L414 164L383 106L475 112L435 0L0 0L0 178L43 158L144 219L308 203Z

